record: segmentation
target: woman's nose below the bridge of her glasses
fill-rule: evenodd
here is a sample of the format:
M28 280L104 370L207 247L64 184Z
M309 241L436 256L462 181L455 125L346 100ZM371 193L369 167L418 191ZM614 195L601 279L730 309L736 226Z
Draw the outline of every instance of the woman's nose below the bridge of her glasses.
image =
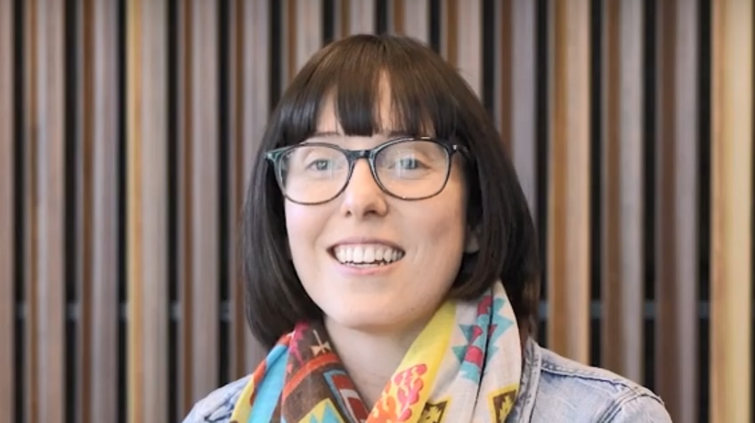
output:
M367 160L360 159L354 163L352 177L343 193L341 208L345 215L360 218L386 214L388 208L386 193L380 189L373 177Z

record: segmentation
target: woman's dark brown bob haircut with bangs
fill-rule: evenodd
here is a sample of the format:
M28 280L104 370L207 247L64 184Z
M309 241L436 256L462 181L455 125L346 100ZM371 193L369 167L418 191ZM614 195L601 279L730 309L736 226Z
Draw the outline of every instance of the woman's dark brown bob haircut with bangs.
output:
M407 135L459 142L465 165L467 220L479 250L465 255L448 297L481 296L503 281L519 326L536 329L540 259L532 216L506 146L487 110L459 73L407 37L358 35L325 46L304 64L265 128L248 183L240 233L246 313L254 336L272 347L297 321L319 320L290 258L284 198L264 153L303 142L317 129L323 102L335 102L347 135L381 133L378 85L387 79L394 125ZM399 129L399 128L391 128Z

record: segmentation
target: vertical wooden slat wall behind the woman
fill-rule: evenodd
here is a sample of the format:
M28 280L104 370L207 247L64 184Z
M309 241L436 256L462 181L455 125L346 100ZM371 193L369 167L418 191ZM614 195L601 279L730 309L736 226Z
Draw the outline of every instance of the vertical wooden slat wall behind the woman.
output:
M180 421L261 357L235 222L267 113L357 32L426 41L513 151L540 340L753 416L753 10L738 0L0 0L4 421ZM5 420L8 419L8 420Z

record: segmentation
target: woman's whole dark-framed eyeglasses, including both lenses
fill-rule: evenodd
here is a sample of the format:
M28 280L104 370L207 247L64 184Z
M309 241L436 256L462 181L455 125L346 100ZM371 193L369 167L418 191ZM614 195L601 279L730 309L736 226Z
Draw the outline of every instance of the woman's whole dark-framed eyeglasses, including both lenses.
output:
M358 159L367 159L380 189L398 199L428 199L440 193L451 174L451 157L463 146L433 138L400 138L370 150L346 150L327 142L268 151L283 195L290 201L322 204L348 185Z

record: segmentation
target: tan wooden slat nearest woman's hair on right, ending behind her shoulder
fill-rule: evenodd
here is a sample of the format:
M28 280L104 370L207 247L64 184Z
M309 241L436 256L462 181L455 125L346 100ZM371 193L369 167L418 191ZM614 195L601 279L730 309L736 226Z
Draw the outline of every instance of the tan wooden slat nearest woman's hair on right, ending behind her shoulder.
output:
M551 2L548 346L589 361L589 0Z

